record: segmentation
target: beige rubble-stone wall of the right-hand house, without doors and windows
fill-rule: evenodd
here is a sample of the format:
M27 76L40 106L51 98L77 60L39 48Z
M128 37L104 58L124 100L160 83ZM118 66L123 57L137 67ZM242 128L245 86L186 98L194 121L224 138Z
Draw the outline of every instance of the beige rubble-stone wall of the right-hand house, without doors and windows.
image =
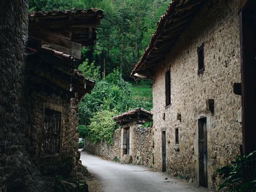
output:
M241 81L239 0L213 1L198 12L165 60L153 84L154 167L161 170L161 132L166 131L167 173L198 183L198 119L207 117L208 187L216 189L215 170L239 155L241 97L233 84ZM198 75L197 47L204 43L205 71ZM171 71L171 106L165 106L165 72ZM214 99L214 113L206 100ZM181 114L181 120L177 119ZM164 118L165 117L165 118ZM179 128L179 145L175 129Z

